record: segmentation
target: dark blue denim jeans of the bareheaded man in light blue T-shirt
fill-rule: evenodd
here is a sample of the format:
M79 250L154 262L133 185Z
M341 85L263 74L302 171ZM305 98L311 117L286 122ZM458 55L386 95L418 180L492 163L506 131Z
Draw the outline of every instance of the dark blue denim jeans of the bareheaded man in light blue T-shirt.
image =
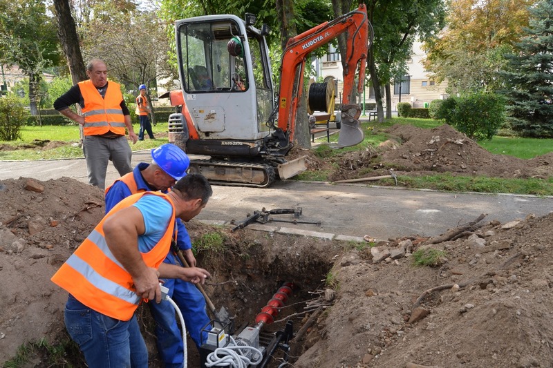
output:
M128 321L98 313L71 294L65 326L91 368L148 367L148 350L135 316Z

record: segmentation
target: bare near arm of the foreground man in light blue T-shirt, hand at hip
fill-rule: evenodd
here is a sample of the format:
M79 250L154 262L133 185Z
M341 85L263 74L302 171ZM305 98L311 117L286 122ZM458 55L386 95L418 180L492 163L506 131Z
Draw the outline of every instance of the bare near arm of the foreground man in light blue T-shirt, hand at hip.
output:
M104 237L113 256L133 278L136 294L143 299L161 301L156 269L147 267L138 251L138 235L144 229L144 217L135 206L120 209L104 222Z

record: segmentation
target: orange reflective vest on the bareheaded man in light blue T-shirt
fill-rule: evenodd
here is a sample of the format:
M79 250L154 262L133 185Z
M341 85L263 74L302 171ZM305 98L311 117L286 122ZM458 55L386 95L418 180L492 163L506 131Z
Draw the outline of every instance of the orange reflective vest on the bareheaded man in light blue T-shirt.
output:
M175 207L165 194L142 192L126 197L113 207L51 279L86 307L118 320L130 320L142 298L135 293L131 275L109 250L103 225L113 213L131 206L144 195L159 195L173 208L169 226L161 240L148 253L141 253L147 267L157 269L169 253Z

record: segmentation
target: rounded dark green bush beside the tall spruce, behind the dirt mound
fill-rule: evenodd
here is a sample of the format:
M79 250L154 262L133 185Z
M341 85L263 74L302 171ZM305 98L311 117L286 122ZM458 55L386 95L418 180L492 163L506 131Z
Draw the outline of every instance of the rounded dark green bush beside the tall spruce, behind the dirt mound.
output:
M494 93L449 97L437 117L471 139L491 139L505 123L505 100Z

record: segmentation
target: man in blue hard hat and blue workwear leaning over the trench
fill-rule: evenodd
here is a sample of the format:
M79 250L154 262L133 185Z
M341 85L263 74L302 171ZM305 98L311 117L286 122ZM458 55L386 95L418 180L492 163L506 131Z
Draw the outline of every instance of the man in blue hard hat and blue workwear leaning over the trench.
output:
M190 162L188 156L174 144L163 144L151 151L152 162L138 164L132 173L116 180L106 189L106 211L122 201L125 197L144 191L162 191L167 193L181 177L187 175ZM197 175L197 174L189 174ZM188 175L188 176L189 176ZM176 246L182 249L185 260L191 267L196 266L196 258L192 253L192 244L187 229L177 220ZM182 267L174 252L169 252L163 261ZM205 298L198 289L180 278L164 280L164 286L169 289L169 296L176 302L185 326L196 347L203 345L207 336L202 336L201 330L209 317L205 309ZM174 308L168 303L149 303L153 319L156 320L156 336L158 351L165 367L182 367L184 345L182 333L178 329Z

